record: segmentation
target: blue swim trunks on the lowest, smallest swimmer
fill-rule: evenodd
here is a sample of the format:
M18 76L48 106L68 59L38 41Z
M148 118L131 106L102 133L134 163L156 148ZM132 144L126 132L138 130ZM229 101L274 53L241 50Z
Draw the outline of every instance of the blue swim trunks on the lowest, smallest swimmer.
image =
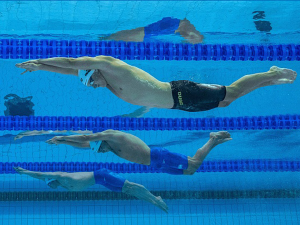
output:
M112 191L122 191L122 187L125 182L125 178L117 175L109 169L98 169L93 172L95 181L97 184L101 184Z

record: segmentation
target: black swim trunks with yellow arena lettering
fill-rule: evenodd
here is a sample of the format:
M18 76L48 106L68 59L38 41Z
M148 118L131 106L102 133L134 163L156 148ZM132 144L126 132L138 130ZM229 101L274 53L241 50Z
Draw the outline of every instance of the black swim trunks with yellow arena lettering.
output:
M184 111L205 111L216 108L224 100L226 87L218 84L196 83L189 80L171 81L174 106Z

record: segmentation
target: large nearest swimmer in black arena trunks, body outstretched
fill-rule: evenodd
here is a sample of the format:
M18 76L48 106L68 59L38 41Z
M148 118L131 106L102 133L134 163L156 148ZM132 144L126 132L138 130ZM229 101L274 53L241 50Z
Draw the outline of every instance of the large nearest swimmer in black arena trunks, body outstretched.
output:
M292 83L297 76L291 69L272 66L266 72L245 75L228 86L188 80L161 82L135 66L103 55L34 59L17 63L16 66L25 69L21 74L46 70L79 76L84 85L93 88L107 87L116 96L131 104L185 111L225 107L254 89Z

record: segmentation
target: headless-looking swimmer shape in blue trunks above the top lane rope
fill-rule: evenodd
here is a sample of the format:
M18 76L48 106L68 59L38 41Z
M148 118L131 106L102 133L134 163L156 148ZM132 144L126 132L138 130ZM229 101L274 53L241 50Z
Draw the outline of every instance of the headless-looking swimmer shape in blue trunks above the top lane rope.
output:
M203 35L196 30L195 26L186 18L177 19L164 17L157 22L134 29L120 30L115 33L99 37L101 40L122 41L151 41L152 37L158 35L176 34L180 35L189 43L201 43Z

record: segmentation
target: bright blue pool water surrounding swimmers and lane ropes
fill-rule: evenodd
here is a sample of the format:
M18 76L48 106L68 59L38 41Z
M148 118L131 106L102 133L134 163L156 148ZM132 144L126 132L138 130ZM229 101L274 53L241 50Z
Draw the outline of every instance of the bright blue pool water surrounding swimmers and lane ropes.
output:
M204 43L299 44L299 1L0 1L0 39L34 38L97 40L119 30L151 24L163 17L186 17L204 35ZM254 19L254 11L264 17ZM254 21L268 21L260 31ZM268 23L263 23L268 24ZM256 24L257 25L257 24ZM258 27L259 28L259 27ZM259 29L265 28L260 26ZM182 42L178 35L156 41ZM1 59L0 115L7 94L32 96L30 113L51 116L115 116L132 113L129 104L107 89L83 86L75 76L35 71L20 75L14 66L23 59ZM270 66L300 71L298 61L166 61L125 60L161 81L189 79L229 85L237 78L267 71ZM299 81L268 86L239 98L225 108L203 112L151 109L144 117L224 117L298 114ZM65 145L48 145L53 135L13 140L19 131L0 131L0 162L97 161L127 162L111 152L95 154ZM193 155L209 131L128 131L149 146L163 146ZM299 160L298 130L234 130L232 141L213 149L205 160ZM141 201L60 200L0 201L0 224L299 224L299 172L199 172L192 176L165 173L125 173L126 179L150 191L202 191L188 199L171 197L168 214ZM18 174L0 174L1 192L52 191L44 182ZM57 191L57 190L54 190ZM64 191L58 188L58 191ZM107 191L93 185L87 191ZM218 197L205 197L218 191ZM230 192L231 191L231 192ZM228 193L232 193L230 197ZM235 191L235 192L234 192ZM236 191L248 191L238 195ZM260 191L260 195L257 193ZM277 192L276 192L277 191ZM289 194L283 194L283 193ZM274 193L267 197L268 193ZM280 195L281 193L281 195Z

